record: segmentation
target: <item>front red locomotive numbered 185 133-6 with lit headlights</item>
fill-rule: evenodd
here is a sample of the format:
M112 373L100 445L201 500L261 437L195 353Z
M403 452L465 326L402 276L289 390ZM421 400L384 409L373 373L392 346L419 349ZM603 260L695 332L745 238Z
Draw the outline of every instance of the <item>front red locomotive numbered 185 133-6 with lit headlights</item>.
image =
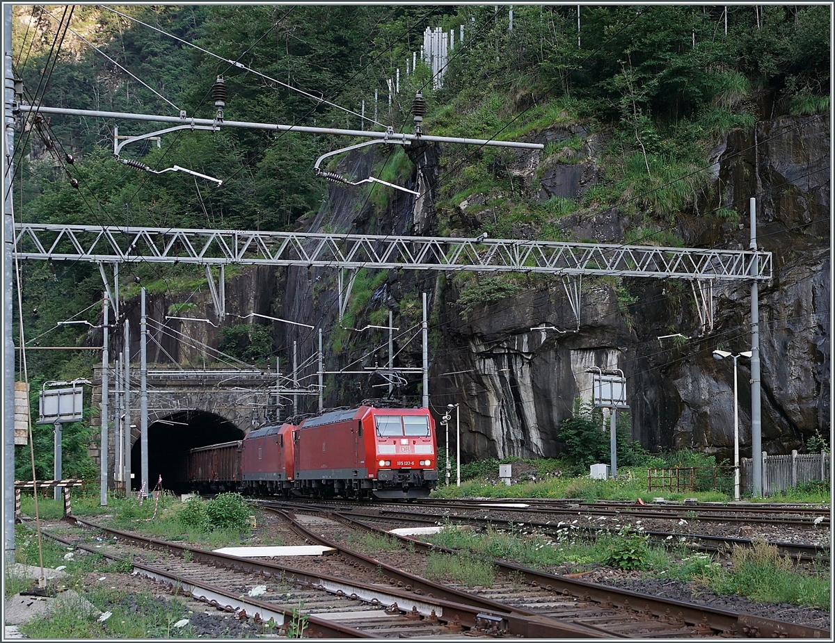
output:
M293 492L425 497L438 480L435 444L428 409L360 406L307 418L293 431Z

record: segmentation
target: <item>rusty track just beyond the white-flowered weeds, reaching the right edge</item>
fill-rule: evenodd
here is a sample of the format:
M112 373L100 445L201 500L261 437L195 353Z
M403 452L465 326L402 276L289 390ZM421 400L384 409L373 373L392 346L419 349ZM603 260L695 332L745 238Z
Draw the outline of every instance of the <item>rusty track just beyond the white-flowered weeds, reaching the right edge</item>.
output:
M508 510L509 508L506 505L509 504L513 503L494 503L492 508L493 510ZM286 507L291 510L306 510L309 509L311 505L309 503L280 501L277 504L274 504L273 506ZM326 505L321 506L331 506L331 503L327 503ZM460 525L496 527L501 529L512 521L513 524L516 526L519 526L524 529L536 530L543 535L548 535L549 537L557 537L559 535L559 530L562 529L564 525L569 525L568 522L563 523L559 520L556 523L554 523L553 521L542 522L540 520L530 520L527 517L529 514L525 514L524 517L521 519L516 515L508 517L507 515L504 515L504 513L500 517L498 515L488 515L488 517L486 518L480 518L475 515L462 515L461 513L456 513L455 515L417 515L414 505L409 505L409 509L403 508L402 505L386 505L385 507L377 507L375 505L358 505L357 503L340 503L338 505L332 506L335 507L335 510L342 512L346 515L364 517L371 520L397 520L400 522L414 523L417 525L438 525L441 521L449 520ZM433 507L433 509L437 509L437 507ZM476 510L480 510L480 512L484 511L484 508L482 506L474 506L469 504L463 505L463 509L466 509L469 512L473 512ZM508 511L507 513L511 512ZM533 513L535 514L535 512ZM576 514L576 511L574 511L574 514ZM611 530L609 527L597 527L589 525L570 526L572 530L589 536L605 533ZM648 536L650 540L661 545L669 545L672 542L675 544L684 544L694 550L711 553L726 553L732 550L735 546L751 547L756 542L756 539L752 538L739 538L736 536L728 535L698 534L689 532L685 533L682 531L643 530L641 533ZM777 547L777 551L780 555L792 556L792 558L795 558L797 560L828 562L830 559L830 548L826 545L782 542L777 540L765 540L765 542L769 545Z

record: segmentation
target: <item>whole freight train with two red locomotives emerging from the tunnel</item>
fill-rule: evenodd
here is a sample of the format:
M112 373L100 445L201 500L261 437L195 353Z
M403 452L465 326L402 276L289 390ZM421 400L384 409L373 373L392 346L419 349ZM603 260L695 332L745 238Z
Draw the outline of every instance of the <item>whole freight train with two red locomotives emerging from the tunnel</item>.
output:
M428 409L330 411L297 426L261 427L238 444L238 449L226 443L191 450L192 485L259 495L409 499L429 495L438 481L435 424ZM212 450L213 462L228 461L207 467Z

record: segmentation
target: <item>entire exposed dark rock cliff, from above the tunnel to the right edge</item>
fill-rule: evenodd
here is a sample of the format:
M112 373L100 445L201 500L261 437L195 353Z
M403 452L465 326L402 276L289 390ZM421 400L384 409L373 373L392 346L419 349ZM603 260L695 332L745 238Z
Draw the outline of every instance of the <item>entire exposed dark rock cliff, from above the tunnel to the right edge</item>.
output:
M599 135L589 136L576 126L545 133L543 142L566 142L557 160L543 160L541 153L518 153L509 172L520 179L529 196L575 197L597 180L595 153L600 143L595 136ZM755 131L729 133L709 155L715 188L711 203L698 203L697 212L684 217L686 224L680 229L689 247L747 249L748 199L760 195L757 244L773 253L774 268L772 281L759 287L762 448L770 454L802 449L816 432L829 431L829 140L829 123L819 117L781 117L758 123ZM406 187L423 194L417 201L407 193L391 191L383 212L369 206L365 193L356 188L331 187L319 213L300 228L437 234L434 199L442 152L433 145L409 150L416 168ZM341 170L368 176L374 160L372 154L351 154ZM474 229L478 215L471 214L472 206L479 204L479 195L471 195L453 219L464 230ZM711 216L718 206L735 210L738 220ZM629 224L616 208L590 219L571 216L565 220L574 239L601 243L620 243ZM251 271L249 277L240 276L234 287L227 284L227 298L231 294L235 299L227 301L227 308L325 329L326 370L385 365L383 330L341 328L346 325L341 311L347 313L355 306L358 286L346 298L351 279L345 274L341 297L336 273L301 268ZM369 324L368 315L375 310L392 310L398 329L395 364L419 367L420 294L428 293L430 407L439 419L446 404L460 404L465 459L559 454L564 447L559 425L572 414L575 399L590 397L587 370L593 366L624 371L633 438L645 448L691 447L731 457L732 362L718 362L711 353L716 348L734 354L751 348L749 284L714 284L712 328L709 320L700 321L691 284L686 282L624 279L619 286L613 280L586 279L579 316L567 296L574 284L539 278L523 285L521 294L476 304L464 319L456 302L467 286L438 273L389 271L372 292L362 294L356 324ZM156 314L164 315L168 304L156 304ZM139 320L135 321L138 327ZM412 331L405 334L407 329ZM415 329L417 339L413 339ZM189 332L205 334L200 339L208 343L210 334L215 334L216 340L217 331L208 324ZM686 338L658 339L678 333ZM282 354L290 354L296 341L300 362L316 350L316 334L309 329L276 323L273 334ZM165 349L175 359L194 359L182 343ZM315 361L308 360L302 375L315 372ZM740 359L741 453L746 457L751 449L750 376L750 365ZM326 406L357 404L363 397L379 394L370 384L357 384L357 379L326 378ZM419 375L410 376L402 392L421 394L419 383ZM313 399L302 404L315 409ZM453 414L451 428L454 422Z

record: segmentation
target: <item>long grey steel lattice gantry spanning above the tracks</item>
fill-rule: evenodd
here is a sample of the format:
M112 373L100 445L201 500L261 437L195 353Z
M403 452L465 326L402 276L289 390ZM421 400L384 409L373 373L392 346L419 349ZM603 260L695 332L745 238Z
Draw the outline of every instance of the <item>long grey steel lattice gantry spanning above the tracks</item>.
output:
M772 278L772 254L758 250L514 239L16 224L15 249L19 259L99 264L295 265L699 281Z

